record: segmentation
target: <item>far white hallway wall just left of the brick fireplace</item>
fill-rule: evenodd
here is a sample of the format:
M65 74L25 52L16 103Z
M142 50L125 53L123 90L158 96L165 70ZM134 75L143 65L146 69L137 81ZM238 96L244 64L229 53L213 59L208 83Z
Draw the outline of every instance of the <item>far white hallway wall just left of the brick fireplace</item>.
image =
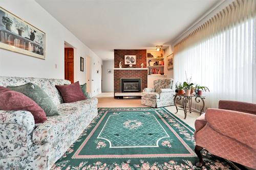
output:
M102 66L102 92L114 91L114 71L113 74L108 74L107 69L114 68L114 60L103 61Z

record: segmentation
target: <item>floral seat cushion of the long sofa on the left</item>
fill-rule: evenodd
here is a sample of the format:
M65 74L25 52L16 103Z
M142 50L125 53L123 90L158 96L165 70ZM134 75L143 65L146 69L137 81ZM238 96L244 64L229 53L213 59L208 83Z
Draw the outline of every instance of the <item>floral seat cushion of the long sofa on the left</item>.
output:
M48 117L44 124L37 124L37 128L32 135L34 143L56 144L61 142L61 134L69 133L67 131L72 129L73 124L79 124L82 116L90 116L91 109L90 104L79 101L58 105L58 112L60 115Z

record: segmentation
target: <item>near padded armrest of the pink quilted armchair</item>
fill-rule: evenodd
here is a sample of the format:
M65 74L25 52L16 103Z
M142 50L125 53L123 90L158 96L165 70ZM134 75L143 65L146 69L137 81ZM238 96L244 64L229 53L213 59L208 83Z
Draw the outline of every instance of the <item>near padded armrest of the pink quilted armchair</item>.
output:
M206 110L205 119L218 133L256 149L256 115L211 108Z

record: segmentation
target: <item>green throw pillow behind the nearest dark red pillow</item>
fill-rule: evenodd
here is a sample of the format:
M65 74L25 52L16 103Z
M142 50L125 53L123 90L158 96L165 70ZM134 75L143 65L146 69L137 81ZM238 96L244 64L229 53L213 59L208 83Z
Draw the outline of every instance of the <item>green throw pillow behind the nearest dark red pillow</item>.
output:
M21 86L7 86L7 88L27 95L46 112L47 116L59 115L58 109L50 99L49 95L38 85L27 83Z

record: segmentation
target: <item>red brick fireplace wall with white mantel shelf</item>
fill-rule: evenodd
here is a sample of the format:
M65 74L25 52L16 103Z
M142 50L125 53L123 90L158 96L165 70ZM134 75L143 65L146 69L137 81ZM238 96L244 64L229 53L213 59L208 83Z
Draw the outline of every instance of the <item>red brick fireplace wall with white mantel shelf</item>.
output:
M124 65L124 55L136 55L136 65ZM121 62L122 68L119 68ZM147 87L146 50L114 50L114 92L121 92L121 79L141 79L141 91ZM141 68L141 64L144 64Z

